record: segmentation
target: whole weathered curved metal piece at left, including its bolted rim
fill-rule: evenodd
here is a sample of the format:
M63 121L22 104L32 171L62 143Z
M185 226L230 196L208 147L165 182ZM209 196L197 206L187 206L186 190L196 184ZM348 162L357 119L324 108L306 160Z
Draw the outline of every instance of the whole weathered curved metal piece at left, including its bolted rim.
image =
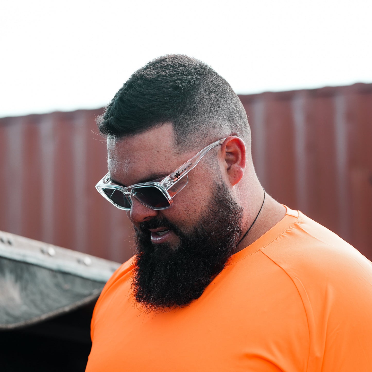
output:
M116 262L0 231L0 330L95 301Z

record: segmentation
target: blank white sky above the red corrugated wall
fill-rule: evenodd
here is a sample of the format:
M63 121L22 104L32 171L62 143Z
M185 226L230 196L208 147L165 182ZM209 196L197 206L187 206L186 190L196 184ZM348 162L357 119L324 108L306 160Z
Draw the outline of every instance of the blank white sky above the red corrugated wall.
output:
M183 53L239 93L372 82L372 1L32 1L0 5L0 117L105 106Z

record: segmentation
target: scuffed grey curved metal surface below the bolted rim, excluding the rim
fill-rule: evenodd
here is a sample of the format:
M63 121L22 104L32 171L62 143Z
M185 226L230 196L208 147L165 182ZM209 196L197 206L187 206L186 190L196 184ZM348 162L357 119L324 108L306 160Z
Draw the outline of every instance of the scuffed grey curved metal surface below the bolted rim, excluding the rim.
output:
M0 330L26 327L96 301L105 283L0 257Z

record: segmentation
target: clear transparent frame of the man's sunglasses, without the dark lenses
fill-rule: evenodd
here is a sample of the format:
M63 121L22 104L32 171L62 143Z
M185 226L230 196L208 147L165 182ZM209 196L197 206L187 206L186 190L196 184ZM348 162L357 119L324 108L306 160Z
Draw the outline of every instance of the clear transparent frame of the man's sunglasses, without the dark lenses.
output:
M228 137L226 137L228 138ZM168 176L157 179L151 182L143 182L143 183L136 183L135 185L131 185L128 187L120 186L112 184L112 181L110 180L110 173L107 173L105 177L103 177L96 185L96 189L98 192L107 199L110 203L116 206L116 208L122 209L124 211L130 211L132 208L132 198L134 197L138 202L140 202L142 205L146 206L147 208L154 209L154 210L161 210L161 209L169 209L173 206L173 198L176 196L182 189L187 185L188 177L187 173L196 167L196 165L199 163L201 158L208 153L209 150L212 148L222 145L226 138L222 138L221 140L215 141L211 143L210 145L203 148L201 151L199 151L194 157L192 157L190 160L187 160L186 163L183 163L182 166L177 168L174 172L170 173ZM182 182L183 181L183 182ZM162 208L156 208L154 206L148 205L144 201L141 201L138 199L133 193L134 189L140 189L141 187L148 187L153 186L156 187L160 192L164 195L164 197L169 202L169 205L162 207ZM122 193L124 193L124 196L128 199L129 203L131 204L130 208L122 207L115 202L113 202L103 191L104 189L112 189L112 190L120 190Z

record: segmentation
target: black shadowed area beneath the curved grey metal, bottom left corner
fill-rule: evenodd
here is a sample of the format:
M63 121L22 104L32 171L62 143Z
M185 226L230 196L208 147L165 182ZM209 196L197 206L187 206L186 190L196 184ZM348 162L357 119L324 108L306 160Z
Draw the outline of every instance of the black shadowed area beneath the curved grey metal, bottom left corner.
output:
M94 302L26 328L0 332L1 370L84 372Z

